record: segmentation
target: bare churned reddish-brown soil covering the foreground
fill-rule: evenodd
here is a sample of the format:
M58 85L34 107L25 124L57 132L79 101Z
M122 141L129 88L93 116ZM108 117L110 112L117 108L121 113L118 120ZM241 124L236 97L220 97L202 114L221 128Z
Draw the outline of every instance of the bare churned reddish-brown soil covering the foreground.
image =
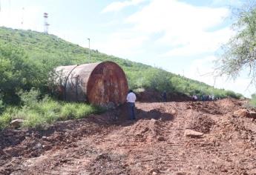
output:
M137 103L44 131L0 133L0 174L256 174L256 122L234 99ZM184 136L186 128L204 133Z

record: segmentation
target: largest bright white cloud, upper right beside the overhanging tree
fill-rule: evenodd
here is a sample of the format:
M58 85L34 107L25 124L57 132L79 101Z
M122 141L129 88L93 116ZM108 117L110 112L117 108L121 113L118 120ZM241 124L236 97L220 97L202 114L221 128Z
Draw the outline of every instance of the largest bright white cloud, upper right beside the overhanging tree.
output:
M232 30L212 30L229 16L223 7L195 7L176 0L154 0L126 20L145 35L163 32L158 44L169 47L163 56L191 56L214 52L232 35Z

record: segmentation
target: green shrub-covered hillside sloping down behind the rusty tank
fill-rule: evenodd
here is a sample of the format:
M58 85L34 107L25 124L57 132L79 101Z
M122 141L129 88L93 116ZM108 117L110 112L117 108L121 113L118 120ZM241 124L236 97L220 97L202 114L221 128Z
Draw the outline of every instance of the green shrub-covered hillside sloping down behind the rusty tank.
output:
M115 56L99 53L91 50L91 59L88 59L88 48L80 47L60 39L57 36L47 35L31 30L13 30L0 27L0 44L8 47L22 48L27 59L36 62L36 66L43 67L47 71L40 70L42 76L48 70L59 65L76 65L89 62L102 62L111 60L118 63L128 77L129 87L137 89L140 87L154 90L167 90L175 93L192 94L214 94L215 96L239 97L229 90L215 89L202 82L186 79L183 76L166 72L156 67L131 62ZM47 65L47 66L46 66ZM42 79L44 79L42 77Z

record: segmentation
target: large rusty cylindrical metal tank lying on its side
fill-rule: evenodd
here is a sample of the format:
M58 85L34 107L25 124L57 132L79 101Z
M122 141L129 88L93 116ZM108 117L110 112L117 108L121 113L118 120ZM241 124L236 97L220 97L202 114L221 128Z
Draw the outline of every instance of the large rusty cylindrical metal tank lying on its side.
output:
M63 99L93 105L119 105L125 102L128 82L114 62L56 67Z

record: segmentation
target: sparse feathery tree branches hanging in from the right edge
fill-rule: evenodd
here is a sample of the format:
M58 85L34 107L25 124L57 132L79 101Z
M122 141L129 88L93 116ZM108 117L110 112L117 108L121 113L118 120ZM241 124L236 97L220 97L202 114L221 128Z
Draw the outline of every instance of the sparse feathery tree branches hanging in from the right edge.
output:
M247 4L235 11L233 24L236 35L223 45L223 55L217 62L217 73L237 78L240 71L249 68L252 82L256 78L256 3Z

